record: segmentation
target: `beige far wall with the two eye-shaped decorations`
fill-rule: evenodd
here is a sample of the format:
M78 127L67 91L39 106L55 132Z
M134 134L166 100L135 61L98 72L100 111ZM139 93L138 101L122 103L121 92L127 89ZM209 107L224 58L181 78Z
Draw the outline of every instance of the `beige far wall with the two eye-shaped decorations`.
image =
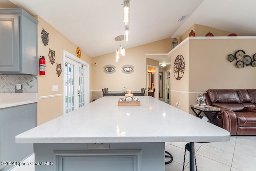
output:
M120 57L116 62L115 53L110 53L92 58L92 98L96 99L102 93L102 88L108 90L121 90L127 87L128 90L140 90L147 86L147 64L158 66L158 61L147 59L146 53L167 53L171 50L171 39L164 39L157 42L126 49L126 56ZM97 66L94 63L97 63ZM106 74L104 66L114 65L116 72ZM124 74L122 67L124 65L134 66L134 72Z

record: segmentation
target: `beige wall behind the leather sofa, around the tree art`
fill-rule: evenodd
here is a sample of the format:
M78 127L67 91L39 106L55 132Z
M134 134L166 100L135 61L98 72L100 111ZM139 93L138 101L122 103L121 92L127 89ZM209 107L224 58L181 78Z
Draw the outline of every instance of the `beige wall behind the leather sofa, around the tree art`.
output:
M189 39L172 52L172 65L175 57L181 54L185 59L185 72L181 80L172 75L172 105L180 103L180 109L191 114L189 105L196 104L196 93L207 89L247 89L254 88L255 69L252 66L237 68L236 60L229 62L228 54L244 50L246 55L256 53L253 39ZM177 107L177 106L176 106Z

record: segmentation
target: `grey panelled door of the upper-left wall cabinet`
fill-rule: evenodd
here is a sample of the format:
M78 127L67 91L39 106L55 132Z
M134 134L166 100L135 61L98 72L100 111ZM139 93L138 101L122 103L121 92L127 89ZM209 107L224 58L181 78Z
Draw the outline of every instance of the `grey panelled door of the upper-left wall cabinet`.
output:
M0 72L20 72L19 16L0 15Z

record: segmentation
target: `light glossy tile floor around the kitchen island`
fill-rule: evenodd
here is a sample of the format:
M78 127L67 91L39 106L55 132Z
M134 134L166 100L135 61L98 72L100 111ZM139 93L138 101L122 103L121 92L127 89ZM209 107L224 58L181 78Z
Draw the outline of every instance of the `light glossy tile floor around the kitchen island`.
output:
M173 161L165 171L182 171L186 143L165 143ZM198 171L255 171L256 136L231 136L228 142L195 143ZM34 161L31 155L26 161ZM189 152L186 151L184 171L189 171ZM15 167L11 171L34 171L34 166Z

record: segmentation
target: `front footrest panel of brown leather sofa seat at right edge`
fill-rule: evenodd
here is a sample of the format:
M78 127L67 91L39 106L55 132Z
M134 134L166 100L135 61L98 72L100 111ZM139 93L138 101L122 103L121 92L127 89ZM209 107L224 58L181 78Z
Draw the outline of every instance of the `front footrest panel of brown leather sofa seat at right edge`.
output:
M238 127L256 127L256 113L242 111L236 112Z

